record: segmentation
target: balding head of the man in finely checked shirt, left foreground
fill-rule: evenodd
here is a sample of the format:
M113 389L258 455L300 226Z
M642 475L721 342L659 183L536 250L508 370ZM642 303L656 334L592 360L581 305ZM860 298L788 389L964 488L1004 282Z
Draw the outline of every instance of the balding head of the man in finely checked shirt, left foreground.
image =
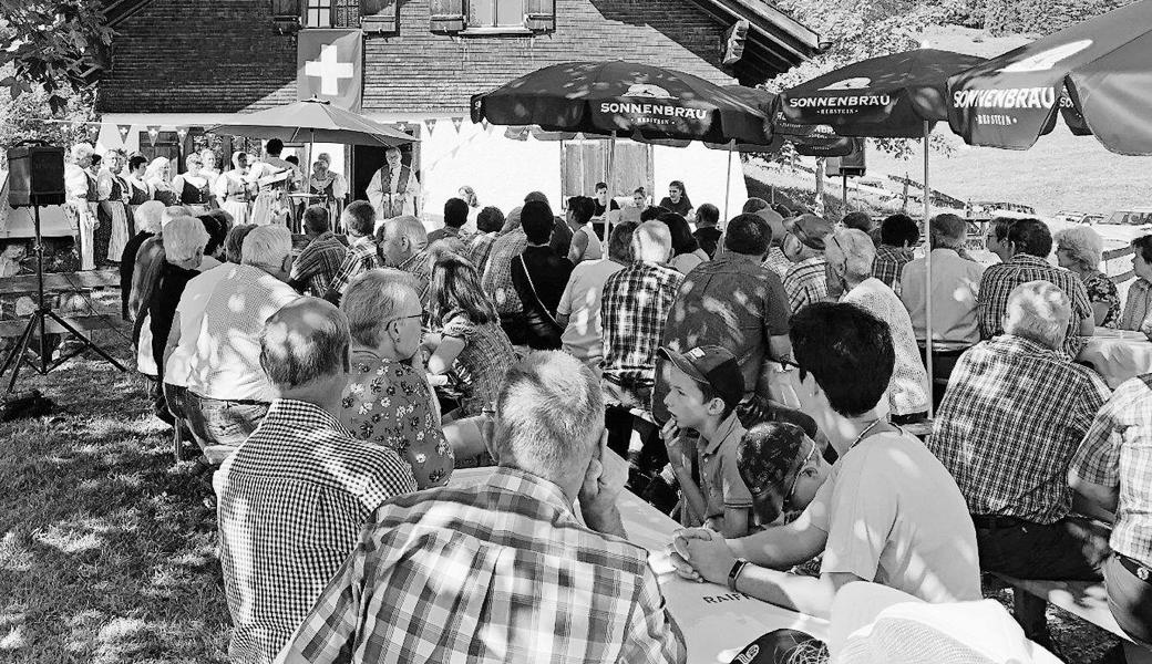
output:
M348 373L348 319L335 305L301 297L272 314L260 333L260 366L281 392Z

